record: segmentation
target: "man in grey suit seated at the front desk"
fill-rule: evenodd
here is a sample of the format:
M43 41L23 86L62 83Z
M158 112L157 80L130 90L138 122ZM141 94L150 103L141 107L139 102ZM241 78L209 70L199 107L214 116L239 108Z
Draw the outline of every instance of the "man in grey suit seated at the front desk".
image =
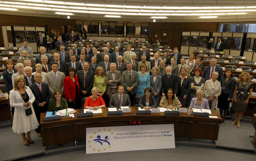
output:
M111 96L109 107L131 106L129 95L123 92L124 86L118 86L118 93Z

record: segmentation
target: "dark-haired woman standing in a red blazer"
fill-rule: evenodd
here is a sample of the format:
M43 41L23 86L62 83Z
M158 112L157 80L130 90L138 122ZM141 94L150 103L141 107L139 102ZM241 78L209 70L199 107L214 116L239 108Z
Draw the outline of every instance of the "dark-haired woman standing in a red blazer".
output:
M75 74L75 68L69 67L68 73L69 73L69 76L64 78L64 81L63 81L65 98L67 99L69 108L80 109L81 101L79 96L79 83L78 83L78 76Z

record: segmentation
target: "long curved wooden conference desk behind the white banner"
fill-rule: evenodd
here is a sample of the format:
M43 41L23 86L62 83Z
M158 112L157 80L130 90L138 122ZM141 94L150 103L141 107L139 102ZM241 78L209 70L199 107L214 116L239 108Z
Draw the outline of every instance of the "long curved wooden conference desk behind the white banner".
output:
M127 126L128 121L134 120L142 121L141 125L174 124L176 137L218 139L219 124L221 124L222 119L216 110L213 110L214 114L210 115L215 115L218 118L194 117L188 116L186 113L170 116L164 115L163 112L136 115L136 110L137 107L131 107L130 113L123 113L121 116L108 116L108 108L102 108L102 114L93 114L93 117L90 118L77 118L77 113L80 113L80 110L77 109L76 118L62 117L60 121L51 122L43 122L46 113L41 113L43 147L86 141L86 128Z

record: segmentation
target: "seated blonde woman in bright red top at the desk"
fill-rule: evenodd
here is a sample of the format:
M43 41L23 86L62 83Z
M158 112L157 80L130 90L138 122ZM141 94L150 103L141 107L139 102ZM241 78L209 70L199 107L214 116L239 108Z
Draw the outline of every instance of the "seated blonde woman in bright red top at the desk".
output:
M91 108L91 109L99 109L106 107L106 104L102 97L98 96L99 89L97 87L93 87L92 90L92 96L87 97L85 100L84 108Z

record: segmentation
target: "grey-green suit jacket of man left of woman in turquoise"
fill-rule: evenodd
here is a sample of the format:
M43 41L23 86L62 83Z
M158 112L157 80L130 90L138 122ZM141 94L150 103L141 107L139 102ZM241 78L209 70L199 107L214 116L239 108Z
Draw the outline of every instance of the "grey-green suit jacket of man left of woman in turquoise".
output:
M122 73L122 85L124 86L124 93L128 94L127 88L133 87L133 90L130 92L130 94L136 94L136 87L139 84L139 75L138 72L135 70L132 70L131 73L131 80L129 78L129 71L125 70Z

